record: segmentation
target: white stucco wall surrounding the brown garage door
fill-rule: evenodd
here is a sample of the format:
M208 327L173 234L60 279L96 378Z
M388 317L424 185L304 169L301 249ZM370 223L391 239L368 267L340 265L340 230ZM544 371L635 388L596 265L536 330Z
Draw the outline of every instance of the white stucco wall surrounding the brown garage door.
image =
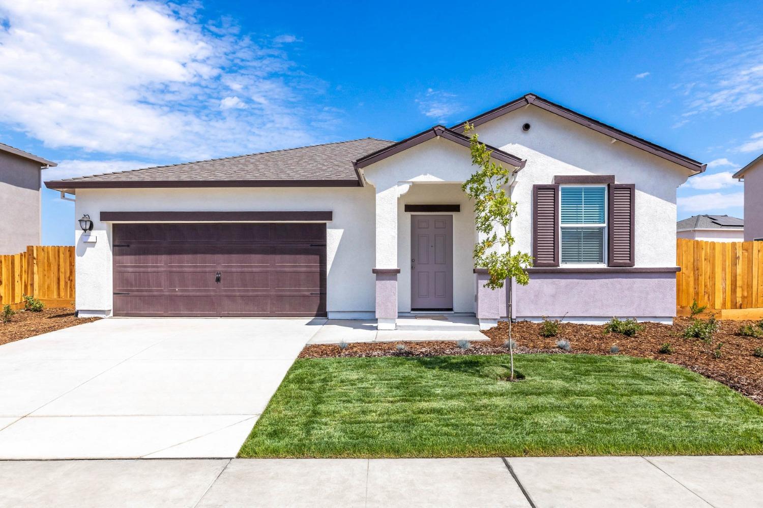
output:
M327 310L374 311L374 190L349 188L89 189L78 190L76 219L93 219L95 244L76 229L76 308L111 311L111 227L101 211L319 211L327 224Z

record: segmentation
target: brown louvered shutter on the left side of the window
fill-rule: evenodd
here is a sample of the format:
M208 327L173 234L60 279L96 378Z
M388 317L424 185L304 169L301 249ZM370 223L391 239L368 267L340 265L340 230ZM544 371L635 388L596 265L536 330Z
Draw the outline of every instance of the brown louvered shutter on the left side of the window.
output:
M559 266L559 185L533 185L533 265Z

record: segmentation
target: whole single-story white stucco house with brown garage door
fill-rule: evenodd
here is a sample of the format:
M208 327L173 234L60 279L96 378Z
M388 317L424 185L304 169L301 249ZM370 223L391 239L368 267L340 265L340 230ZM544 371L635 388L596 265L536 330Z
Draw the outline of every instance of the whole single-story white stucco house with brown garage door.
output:
M534 94L468 122L512 171L527 286L486 289L473 264L459 123L46 182L92 220L79 315L672 321L676 187L705 165Z

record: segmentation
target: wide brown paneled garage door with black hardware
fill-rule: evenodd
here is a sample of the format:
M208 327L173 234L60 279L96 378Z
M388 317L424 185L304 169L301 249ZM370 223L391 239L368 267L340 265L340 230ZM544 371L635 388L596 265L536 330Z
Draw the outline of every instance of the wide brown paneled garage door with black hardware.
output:
M114 224L114 315L324 316L325 224Z

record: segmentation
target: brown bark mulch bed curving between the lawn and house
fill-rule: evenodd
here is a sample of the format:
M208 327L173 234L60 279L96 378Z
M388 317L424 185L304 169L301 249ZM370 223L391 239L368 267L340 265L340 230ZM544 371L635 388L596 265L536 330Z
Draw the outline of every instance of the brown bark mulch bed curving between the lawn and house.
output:
M743 324L755 321L719 321L720 329L713 335L713 345L708 347L696 339L684 339L684 329L691 324L690 318L676 318L673 325L643 323L645 329L636 337L621 334L604 334L604 326L593 324L562 323L556 337L541 337L540 324L520 321L512 325L512 338L517 343L515 353L589 353L609 355L610 347L617 345L620 353L629 356L658 359L675 363L710 379L728 385L736 391L763 404L763 358L753 356L756 347L763 347L763 339L737 335ZM340 350L336 344L311 344L302 350L300 358L328 358L353 356L443 356L463 354L506 354L504 342L508 338L508 324L483 332L490 341L473 342L467 350L449 341L351 343ZM565 352L556 347L557 340L568 340L571 350ZM670 343L672 354L658 353L663 343ZM718 343L722 356L716 358L713 350ZM405 343L400 351L396 344Z

